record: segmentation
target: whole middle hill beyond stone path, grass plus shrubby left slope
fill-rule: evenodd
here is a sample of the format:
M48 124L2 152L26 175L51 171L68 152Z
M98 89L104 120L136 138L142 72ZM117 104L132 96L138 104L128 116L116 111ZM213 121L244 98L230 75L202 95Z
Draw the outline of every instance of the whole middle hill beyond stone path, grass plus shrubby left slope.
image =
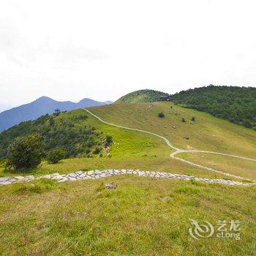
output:
M172 102L113 104L91 108L91 111L113 124L144 129L165 136L178 148L218 151L256 158L255 131L221 118L214 118L207 113L181 108ZM160 112L165 114L165 118L158 117ZM192 117L195 117L193 122ZM181 121L182 118L185 122ZM42 116L37 121L24 122L2 132L1 157L6 156L7 147L14 138L35 132L45 138L47 150L59 146L67 152L67 157L79 157L64 160L59 165L43 163L37 173L135 167L143 170L175 170L176 173L190 173L194 176L215 176L207 170L170 159L170 148L163 140L102 124L85 110L61 113L59 116ZM107 135L113 138L113 144L108 148L105 147ZM99 154L94 154L96 148L100 149ZM252 171L256 170L255 162L244 162L241 159L235 161L223 156L199 153L178 154L177 157L179 156L217 170L228 170L229 173L244 178L256 179ZM4 176L4 173L0 175Z

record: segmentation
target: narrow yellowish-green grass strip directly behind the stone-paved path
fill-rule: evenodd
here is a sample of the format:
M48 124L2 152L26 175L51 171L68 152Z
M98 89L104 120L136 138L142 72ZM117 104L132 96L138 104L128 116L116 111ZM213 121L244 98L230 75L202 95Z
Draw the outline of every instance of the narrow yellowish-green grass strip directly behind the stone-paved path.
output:
M212 173L192 165L184 164L170 157L118 157L118 158L74 158L64 159L58 164L42 162L39 167L31 170L1 170L0 176L34 175L42 176L49 173L72 173L77 170L106 170L106 169L139 169L162 171L167 173L186 174L196 177L227 178L227 176ZM236 180L233 178L233 180ZM241 181L241 180L238 180Z

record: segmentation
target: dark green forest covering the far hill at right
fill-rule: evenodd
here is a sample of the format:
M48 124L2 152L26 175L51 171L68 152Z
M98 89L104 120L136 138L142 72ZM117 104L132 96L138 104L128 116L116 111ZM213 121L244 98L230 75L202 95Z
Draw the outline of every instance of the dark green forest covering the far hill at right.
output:
M207 86L174 94L173 101L256 130L256 88Z

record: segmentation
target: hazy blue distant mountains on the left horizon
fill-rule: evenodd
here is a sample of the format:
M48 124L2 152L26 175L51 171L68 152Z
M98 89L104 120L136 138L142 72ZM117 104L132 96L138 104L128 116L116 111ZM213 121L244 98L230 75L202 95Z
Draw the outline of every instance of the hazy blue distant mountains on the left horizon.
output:
M82 99L77 103L70 101L58 102L54 99L43 96L36 99L34 102L21 105L10 110L5 110L0 113L0 132L14 126L15 124L19 124L22 121L34 120L47 113L53 113L56 108L59 108L61 111L69 111L78 108L108 105L110 103L111 102L97 102L94 99L87 98Z

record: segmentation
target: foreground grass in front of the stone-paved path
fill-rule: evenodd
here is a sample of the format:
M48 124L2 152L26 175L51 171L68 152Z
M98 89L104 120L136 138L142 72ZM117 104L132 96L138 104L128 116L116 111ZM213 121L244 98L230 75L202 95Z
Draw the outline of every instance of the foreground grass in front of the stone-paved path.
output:
M115 176L0 187L1 255L254 255L255 187ZM34 186L32 186L32 184ZM170 199L163 199L170 197ZM189 219L241 221L241 240L189 236Z

